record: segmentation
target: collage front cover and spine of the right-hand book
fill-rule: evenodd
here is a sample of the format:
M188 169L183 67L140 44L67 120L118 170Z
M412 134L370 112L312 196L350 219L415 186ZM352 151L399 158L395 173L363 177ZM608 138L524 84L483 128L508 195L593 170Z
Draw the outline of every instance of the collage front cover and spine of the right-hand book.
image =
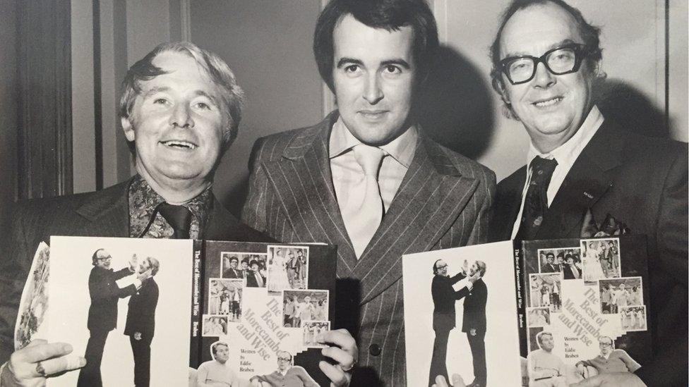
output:
M515 242L515 250L523 386L568 386L648 360L642 235Z

